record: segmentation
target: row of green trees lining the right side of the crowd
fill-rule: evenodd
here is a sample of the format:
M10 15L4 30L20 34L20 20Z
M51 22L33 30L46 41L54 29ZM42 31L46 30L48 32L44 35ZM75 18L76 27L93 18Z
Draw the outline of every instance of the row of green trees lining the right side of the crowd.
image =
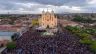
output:
M96 30L88 28L83 29L72 26L66 26L65 28L72 31L72 33L75 36L80 37L81 40L79 42L81 44L87 44L89 49L91 49L92 51L96 51L96 41L93 41L89 35L89 34L96 34Z

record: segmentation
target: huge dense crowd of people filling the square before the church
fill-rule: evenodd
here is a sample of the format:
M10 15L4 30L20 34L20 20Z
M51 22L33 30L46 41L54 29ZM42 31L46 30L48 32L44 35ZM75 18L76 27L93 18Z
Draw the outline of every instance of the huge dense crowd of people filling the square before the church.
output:
M79 40L64 28L55 37L41 37L40 32L29 30L14 40L17 46L7 54L96 54L87 45L80 44Z

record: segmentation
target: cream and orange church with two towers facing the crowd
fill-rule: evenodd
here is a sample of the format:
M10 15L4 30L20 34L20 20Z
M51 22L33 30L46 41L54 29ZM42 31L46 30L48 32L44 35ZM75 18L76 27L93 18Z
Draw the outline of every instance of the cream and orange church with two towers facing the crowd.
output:
M54 11L51 13L42 11L42 17L39 19L40 26L44 26L45 28L56 28L57 26L57 17L54 16Z

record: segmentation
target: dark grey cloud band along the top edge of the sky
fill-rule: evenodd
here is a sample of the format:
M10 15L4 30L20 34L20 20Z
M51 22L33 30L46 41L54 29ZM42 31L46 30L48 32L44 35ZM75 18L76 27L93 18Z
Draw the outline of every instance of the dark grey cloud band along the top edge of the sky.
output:
M55 6L62 6L62 5L85 5L87 0L17 0L17 2L27 2L27 3L39 3L44 5L55 5Z

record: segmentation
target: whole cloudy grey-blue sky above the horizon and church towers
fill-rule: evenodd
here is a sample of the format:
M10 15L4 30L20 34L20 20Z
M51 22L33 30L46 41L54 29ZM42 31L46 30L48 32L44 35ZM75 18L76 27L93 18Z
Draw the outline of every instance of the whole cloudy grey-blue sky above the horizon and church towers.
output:
M96 13L96 0L0 0L0 14Z

